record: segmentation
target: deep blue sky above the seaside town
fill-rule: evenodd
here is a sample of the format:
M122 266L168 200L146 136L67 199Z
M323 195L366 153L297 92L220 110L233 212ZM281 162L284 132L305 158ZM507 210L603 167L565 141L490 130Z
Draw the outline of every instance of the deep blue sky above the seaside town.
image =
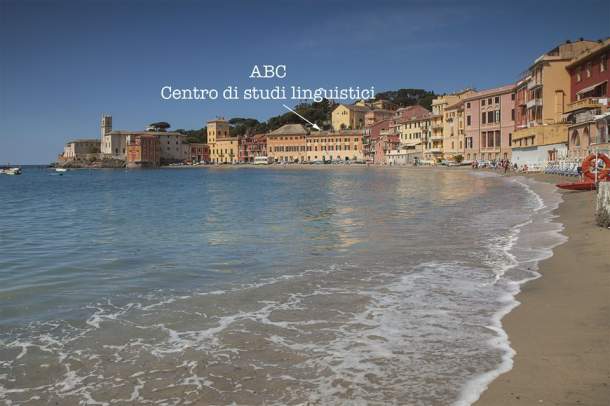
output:
M568 39L610 36L609 23L597 0L0 0L0 164L52 162L68 140L99 137L104 113L140 130L286 111L163 100L163 86L485 89ZM263 64L286 78L250 79Z

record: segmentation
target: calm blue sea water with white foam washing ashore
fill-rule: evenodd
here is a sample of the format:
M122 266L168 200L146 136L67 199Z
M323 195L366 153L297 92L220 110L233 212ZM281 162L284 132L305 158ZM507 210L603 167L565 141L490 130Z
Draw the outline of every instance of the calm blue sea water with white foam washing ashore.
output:
M466 170L0 177L0 401L469 404L558 200Z

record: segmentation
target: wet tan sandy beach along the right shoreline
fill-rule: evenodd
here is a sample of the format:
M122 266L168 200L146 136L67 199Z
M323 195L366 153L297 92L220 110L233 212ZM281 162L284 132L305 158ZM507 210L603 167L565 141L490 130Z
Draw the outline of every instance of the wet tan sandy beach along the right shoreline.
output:
M502 320L514 366L477 406L610 404L610 230L595 225L594 196L562 193L557 214L569 240L540 264L542 277L522 287L521 305Z

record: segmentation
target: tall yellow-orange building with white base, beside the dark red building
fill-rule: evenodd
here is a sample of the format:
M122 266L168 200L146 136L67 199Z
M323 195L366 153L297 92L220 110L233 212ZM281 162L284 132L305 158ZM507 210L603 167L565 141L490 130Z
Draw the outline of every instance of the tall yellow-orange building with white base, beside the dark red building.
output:
M540 168L567 157L568 127L564 120L570 100L566 67L594 41L567 41L536 58L516 84L512 162Z

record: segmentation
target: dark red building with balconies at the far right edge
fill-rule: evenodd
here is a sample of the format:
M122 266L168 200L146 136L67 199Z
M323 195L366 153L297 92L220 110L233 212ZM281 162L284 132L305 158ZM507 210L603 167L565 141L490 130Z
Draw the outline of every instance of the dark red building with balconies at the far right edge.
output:
M608 111L610 100L610 39L600 41L577 55L567 66L570 74L570 103L566 109L568 123L568 158L583 159L597 151L610 152L599 118Z

